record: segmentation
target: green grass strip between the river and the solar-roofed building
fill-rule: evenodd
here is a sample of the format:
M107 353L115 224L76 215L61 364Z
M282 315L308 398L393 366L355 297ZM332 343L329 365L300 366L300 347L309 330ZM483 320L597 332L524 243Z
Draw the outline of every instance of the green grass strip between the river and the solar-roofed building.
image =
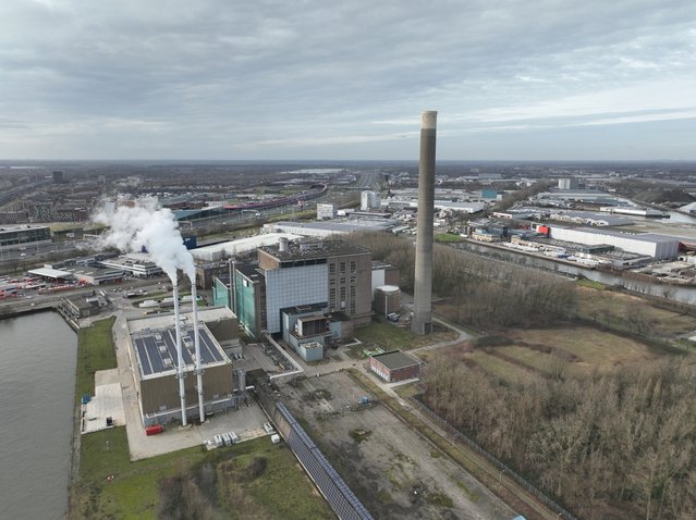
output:
M117 368L111 327L115 318L107 318L82 329L77 335L75 404L84 394L95 395L95 372Z

